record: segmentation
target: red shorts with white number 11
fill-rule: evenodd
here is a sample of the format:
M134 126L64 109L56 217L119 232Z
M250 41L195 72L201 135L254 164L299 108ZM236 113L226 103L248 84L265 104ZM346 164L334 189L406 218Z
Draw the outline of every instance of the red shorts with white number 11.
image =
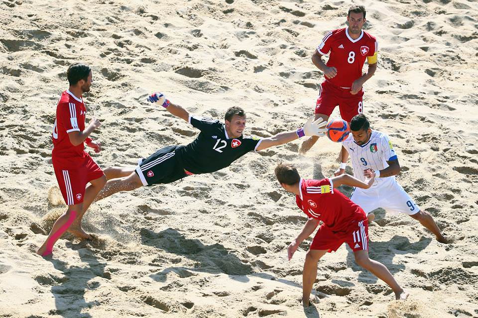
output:
M347 242L354 252L368 250L367 219L354 221L345 232L333 232L323 224L315 234L310 249L327 249L330 253L339 249L343 242Z

